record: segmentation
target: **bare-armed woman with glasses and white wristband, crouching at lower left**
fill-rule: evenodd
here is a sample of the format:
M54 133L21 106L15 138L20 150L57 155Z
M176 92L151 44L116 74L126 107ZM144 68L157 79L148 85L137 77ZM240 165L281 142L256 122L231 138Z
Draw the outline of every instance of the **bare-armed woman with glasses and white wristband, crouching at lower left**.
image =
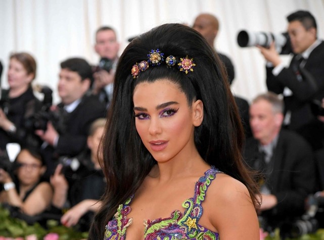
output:
M4 190L0 193L0 203L18 207L22 213L34 216L47 210L51 205L53 190L41 177L46 170L43 158L34 149L24 148L13 163L13 175L0 168L0 183Z

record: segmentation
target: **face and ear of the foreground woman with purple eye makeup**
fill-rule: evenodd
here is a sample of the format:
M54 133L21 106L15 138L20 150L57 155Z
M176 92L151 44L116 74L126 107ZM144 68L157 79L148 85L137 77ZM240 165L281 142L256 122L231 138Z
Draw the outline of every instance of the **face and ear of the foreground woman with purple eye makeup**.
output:
M190 154L194 144L197 105L167 79L139 83L133 95L135 125L145 147L155 160L166 162Z

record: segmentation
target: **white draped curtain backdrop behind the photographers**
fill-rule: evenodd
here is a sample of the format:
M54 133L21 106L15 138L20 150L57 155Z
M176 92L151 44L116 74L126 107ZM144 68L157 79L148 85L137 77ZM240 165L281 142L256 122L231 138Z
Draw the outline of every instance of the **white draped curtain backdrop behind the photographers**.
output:
M238 32L284 32L286 16L296 10L315 16L318 36L323 38L324 0L0 0L2 87L8 87L10 53L27 51L37 61L34 83L50 86L57 103L59 63L81 56L96 64L94 35L100 26L116 29L121 53L129 37L163 23L191 26L198 14L211 13L220 22L216 48L235 65L233 91L251 100L266 91L265 62L256 47L238 46Z

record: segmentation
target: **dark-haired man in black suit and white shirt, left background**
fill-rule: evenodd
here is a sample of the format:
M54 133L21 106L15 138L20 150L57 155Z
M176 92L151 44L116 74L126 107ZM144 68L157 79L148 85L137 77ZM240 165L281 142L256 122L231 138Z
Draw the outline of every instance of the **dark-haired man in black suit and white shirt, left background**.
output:
M106 116L105 104L88 94L92 83L90 65L82 58L69 58L61 63L58 92L62 102L52 106L58 112L58 123L48 122L47 129L36 134L44 141L45 155L52 159L73 157L86 147L88 129L97 118ZM56 128L54 126L57 126ZM53 173L55 163L48 161Z

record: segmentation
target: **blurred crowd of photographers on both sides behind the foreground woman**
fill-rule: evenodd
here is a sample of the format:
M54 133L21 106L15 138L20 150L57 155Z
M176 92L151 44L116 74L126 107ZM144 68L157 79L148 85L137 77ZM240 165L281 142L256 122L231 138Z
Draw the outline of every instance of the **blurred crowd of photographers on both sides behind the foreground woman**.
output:
M269 92L251 103L235 100L246 134L246 164L259 172L260 226L294 236L324 227L324 42L311 13L297 11L287 20L290 65L282 63L274 42L257 45L267 62ZM215 16L201 14L192 27L215 49ZM28 223L57 219L86 231L100 207L106 188L100 141L109 124L119 43L108 26L95 37L98 65L78 57L60 63L58 105L52 89L32 84L34 57L9 56L9 89L0 95L0 203ZM234 65L218 50L232 84Z

